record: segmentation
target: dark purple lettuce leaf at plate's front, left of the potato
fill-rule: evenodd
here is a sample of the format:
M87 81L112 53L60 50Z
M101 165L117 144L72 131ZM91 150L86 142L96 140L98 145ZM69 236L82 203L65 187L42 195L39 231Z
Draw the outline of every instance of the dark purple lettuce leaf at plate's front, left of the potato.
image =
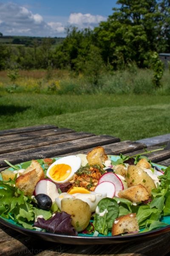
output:
M34 226L43 228L50 233L77 236L77 231L71 225L71 215L66 212L57 212L48 220L37 218L37 222L34 222Z

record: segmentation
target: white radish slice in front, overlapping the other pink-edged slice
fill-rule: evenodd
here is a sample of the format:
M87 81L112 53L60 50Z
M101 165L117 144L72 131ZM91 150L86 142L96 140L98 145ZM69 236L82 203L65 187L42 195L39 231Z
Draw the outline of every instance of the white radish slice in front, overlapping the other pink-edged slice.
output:
M101 193L101 194L107 193L108 198L113 198L115 191L116 191L115 185L110 181L103 181L99 183L99 185L97 185L94 190L94 192L96 193Z

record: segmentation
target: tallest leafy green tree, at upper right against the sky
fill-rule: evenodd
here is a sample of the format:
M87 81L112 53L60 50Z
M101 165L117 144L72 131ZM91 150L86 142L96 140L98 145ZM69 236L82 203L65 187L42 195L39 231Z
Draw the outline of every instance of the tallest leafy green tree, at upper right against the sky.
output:
M166 3L163 5L163 2ZM129 61L135 61L139 67L148 65L150 51L164 49L162 42L167 42L169 36L167 2L169 3L167 0L160 3L156 0L118 0L121 7L113 8L113 15L94 30L103 59L108 60L115 68L123 67ZM163 25L165 20L167 30ZM163 45L165 44L164 42Z

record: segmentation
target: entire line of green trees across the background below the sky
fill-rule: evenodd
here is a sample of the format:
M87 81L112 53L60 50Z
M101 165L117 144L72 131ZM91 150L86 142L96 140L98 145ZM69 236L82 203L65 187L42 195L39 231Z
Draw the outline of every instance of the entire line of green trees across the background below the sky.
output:
M150 67L156 52L170 52L170 0L117 4L120 7L93 30L68 27L55 47L53 38L35 38L31 47L1 44L0 70L67 68L77 73L91 70L95 77L100 69Z

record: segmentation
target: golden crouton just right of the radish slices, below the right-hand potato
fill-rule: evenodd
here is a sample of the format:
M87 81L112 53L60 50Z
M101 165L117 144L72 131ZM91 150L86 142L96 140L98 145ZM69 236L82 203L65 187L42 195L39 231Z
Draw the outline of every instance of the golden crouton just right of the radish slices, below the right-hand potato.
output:
M142 185L138 184L131 186L130 188L119 191L119 198L125 198L132 202L140 202L149 199L149 193L147 189Z

